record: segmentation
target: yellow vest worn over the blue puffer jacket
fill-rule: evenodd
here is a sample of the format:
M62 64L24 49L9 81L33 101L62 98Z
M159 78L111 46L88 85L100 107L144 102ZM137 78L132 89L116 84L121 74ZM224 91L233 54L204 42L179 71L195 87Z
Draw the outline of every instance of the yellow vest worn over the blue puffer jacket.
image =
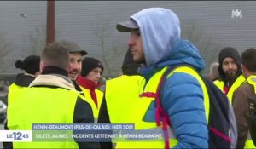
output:
M137 130L145 130L145 129L157 129L161 127L158 127L156 125L156 122L144 122L143 121L143 117L145 115L145 113L148 111L148 107L150 106L151 102L155 100L155 94L156 94L156 90L157 90L157 86L156 84L160 83L160 78L163 75L163 73L166 71L166 67L163 68L160 72L157 72L154 74L153 77L151 77L148 81L148 83L146 84L143 93L145 93L145 95L147 95L148 93L148 97L146 97L145 95L143 97L138 98L137 97L137 101L134 103L130 103L129 106L131 106L131 109L134 110L130 110L127 113L123 113L123 116L128 116L128 117L133 117L133 119L131 120L131 122L135 123L135 129ZM208 119L208 113L209 113L209 98L208 98L208 94L207 94L207 88L205 86L205 84L203 83L203 81L201 80L201 77L197 74L197 72L195 72L195 70L193 70L192 68L189 68L188 66L179 66L177 67L175 70L173 70L171 72L171 74L168 76L170 77L173 73L187 73L193 77L195 77L199 83L201 84L202 90L203 90L203 94L204 94L204 105L205 105L205 109L206 109L206 117ZM108 89L108 87L106 88L106 90ZM125 91L125 90L124 90ZM129 90L126 89L126 92L129 92ZM131 93L131 92L130 92ZM150 94L151 93L151 94ZM120 96L120 98L116 98L116 100L120 100L122 99L122 96ZM120 122L122 123L122 122ZM177 140L175 138L173 138L173 136L175 136L174 134L172 135L172 129L169 130L169 141L170 141L170 147L176 146L177 145ZM165 142L164 140L160 140L160 141L133 141L133 142L117 142L117 148L165 148Z

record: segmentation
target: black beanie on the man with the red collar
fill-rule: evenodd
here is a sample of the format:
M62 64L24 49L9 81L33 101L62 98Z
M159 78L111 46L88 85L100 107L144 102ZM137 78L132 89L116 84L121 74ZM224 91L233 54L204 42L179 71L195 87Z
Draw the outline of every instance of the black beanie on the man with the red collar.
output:
M100 60L96 60L95 58L92 58L92 57L85 57L82 60L81 76L86 77L89 74L89 72L95 69L96 67L102 68L102 73L103 73L103 66Z

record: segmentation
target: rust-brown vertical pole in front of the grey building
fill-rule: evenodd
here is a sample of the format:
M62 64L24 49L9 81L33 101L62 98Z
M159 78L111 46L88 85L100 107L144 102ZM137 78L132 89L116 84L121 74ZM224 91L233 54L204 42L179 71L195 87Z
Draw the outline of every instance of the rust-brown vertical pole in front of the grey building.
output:
M55 1L47 1L46 44L55 42Z

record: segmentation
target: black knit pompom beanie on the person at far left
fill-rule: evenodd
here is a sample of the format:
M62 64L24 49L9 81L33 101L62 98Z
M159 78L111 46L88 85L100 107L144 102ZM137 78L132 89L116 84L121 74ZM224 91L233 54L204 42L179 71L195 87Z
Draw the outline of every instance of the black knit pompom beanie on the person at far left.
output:
M26 73L34 75L36 72L40 71L40 56L30 55L23 61L17 60L15 62L15 67L25 70Z

